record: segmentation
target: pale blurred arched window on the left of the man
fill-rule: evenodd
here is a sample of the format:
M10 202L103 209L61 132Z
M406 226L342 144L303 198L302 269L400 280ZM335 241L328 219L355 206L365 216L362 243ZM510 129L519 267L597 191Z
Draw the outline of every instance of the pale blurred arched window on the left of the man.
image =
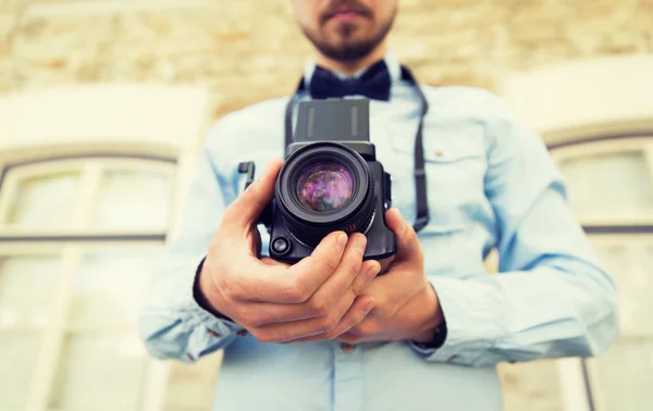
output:
M149 358L136 328L174 189L167 159L0 169L1 410L174 411L188 393L210 409L215 360L184 373Z

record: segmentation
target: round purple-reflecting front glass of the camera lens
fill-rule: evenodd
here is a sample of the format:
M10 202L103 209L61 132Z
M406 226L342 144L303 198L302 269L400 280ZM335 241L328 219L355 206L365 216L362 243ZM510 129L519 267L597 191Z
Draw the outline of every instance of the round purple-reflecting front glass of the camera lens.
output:
M342 209L353 192L352 173L344 165L333 162L308 165L297 179L299 202L317 212Z

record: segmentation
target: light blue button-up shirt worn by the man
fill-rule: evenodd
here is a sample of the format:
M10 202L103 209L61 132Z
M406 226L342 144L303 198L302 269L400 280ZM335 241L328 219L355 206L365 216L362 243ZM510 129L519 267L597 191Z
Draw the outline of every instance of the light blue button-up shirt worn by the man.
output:
M393 205L411 222L420 107L395 58L385 60L391 100L371 101L370 134L392 175ZM347 352L335 341L261 344L194 300L197 265L243 189L238 162L252 160L260 172L283 158L287 98L263 101L225 115L208 134L140 321L158 358L194 362L225 350L214 410L500 411L497 363L596 356L616 338L615 284L574 217L542 140L489 91L422 90L431 220L419 238L447 321L444 346L364 344ZM501 273L489 275L483 260L493 248Z

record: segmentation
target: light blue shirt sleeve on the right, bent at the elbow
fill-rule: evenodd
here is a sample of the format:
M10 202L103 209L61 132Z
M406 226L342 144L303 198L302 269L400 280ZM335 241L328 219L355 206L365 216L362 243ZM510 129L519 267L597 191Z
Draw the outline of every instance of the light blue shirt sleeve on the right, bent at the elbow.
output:
M617 294L566 198L539 136L503 101L488 123L485 196L497 220L500 273L427 275L446 319L428 361L469 366L594 357L618 334Z

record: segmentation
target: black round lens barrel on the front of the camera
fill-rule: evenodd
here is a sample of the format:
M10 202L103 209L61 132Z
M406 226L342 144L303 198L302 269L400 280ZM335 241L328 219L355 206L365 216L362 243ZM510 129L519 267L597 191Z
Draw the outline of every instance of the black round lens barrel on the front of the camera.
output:
M335 231L365 233L374 214L374 187L360 154L342 144L321 141L286 159L275 188L287 229L315 247Z

